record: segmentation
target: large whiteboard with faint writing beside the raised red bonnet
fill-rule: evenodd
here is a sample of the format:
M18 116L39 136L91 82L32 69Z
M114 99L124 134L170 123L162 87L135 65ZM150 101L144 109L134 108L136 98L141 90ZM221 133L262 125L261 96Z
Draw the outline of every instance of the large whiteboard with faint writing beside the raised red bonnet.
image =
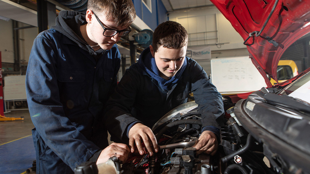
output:
M249 57L211 59L211 79L220 93L241 93L267 87Z

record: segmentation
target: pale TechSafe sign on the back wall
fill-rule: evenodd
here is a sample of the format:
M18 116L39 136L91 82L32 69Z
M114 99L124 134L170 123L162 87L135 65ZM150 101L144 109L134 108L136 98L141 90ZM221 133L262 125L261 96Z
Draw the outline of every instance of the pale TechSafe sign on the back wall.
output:
M187 48L186 56L194 60L206 60L211 59L210 46L200 46Z

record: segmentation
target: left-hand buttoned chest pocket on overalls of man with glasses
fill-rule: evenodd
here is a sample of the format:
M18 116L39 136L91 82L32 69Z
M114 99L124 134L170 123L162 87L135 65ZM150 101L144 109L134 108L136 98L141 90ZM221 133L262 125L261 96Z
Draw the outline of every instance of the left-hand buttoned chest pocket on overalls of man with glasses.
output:
M73 107L80 104L84 95L84 70L57 69L58 89L60 101L64 106ZM70 105L70 106L69 106Z

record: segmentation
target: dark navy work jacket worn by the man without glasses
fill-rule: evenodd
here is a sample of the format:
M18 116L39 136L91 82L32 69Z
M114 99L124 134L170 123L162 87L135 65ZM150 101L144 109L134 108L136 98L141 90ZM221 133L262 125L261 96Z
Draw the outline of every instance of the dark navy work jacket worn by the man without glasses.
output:
M127 142L127 128L136 121L152 128L168 111L186 103L190 91L202 114L202 127L219 128L223 124L222 95L195 60L186 57L184 61L187 61L186 68L169 91L145 72L139 62L126 70L107 102L105 123L111 137L116 136L118 140Z

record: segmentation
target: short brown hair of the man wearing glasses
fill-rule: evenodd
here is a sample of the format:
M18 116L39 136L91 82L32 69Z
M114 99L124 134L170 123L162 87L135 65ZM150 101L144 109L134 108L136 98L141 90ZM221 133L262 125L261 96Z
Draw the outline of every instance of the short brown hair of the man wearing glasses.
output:
M106 18L113 18L117 26L133 23L136 17L132 0L88 0L87 8L99 15L105 12Z

